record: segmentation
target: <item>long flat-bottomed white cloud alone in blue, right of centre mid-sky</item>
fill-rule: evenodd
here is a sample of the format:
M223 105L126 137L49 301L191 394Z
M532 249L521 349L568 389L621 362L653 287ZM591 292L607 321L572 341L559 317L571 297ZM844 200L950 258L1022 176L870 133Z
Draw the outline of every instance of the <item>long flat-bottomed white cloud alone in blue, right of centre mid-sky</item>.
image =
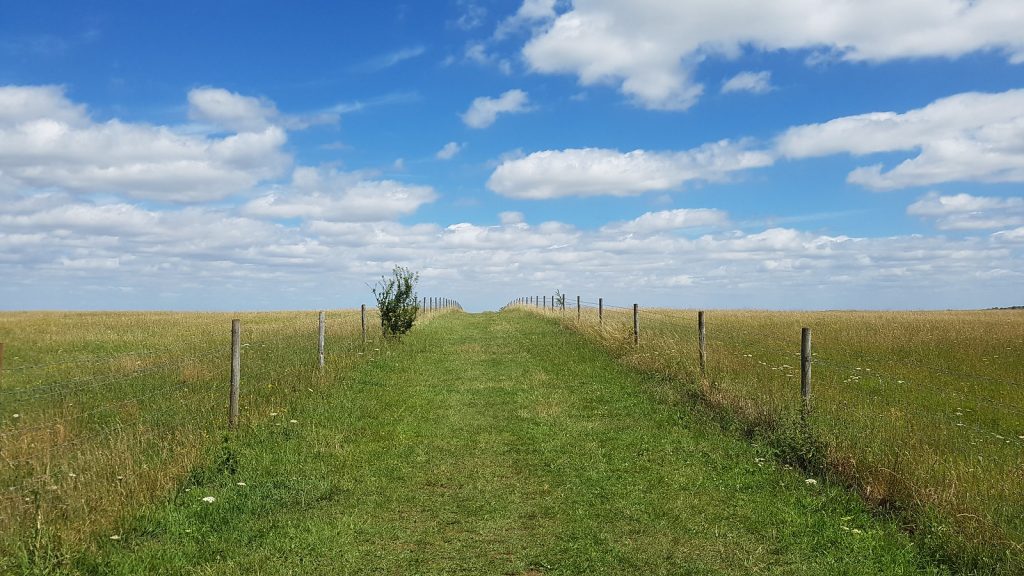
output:
M723 180L730 173L768 166L768 153L722 140L685 152L569 149L535 152L502 162L487 188L511 198L635 196L677 190L693 180Z

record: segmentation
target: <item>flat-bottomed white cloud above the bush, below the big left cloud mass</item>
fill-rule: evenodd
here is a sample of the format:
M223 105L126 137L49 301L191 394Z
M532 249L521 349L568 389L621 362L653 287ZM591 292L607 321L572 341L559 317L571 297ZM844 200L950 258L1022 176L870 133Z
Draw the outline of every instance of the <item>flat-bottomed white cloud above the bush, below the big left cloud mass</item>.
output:
M390 220L416 212L437 198L433 189L394 180L371 180L335 169L296 168L292 183L245 205L262 218L338 222Z

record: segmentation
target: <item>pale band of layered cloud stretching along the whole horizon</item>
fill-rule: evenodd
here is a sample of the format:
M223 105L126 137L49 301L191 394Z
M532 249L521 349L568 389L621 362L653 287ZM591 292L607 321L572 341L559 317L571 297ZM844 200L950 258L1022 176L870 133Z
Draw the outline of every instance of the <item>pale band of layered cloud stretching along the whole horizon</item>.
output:
M330 179L317 172L307 176ZM530 223L513 213L502 214L499 225L317 217L334 209L299 207L291 213L303 221L285 225L226 208L157 211L74 197L19 204L16 214L0 206L0 265L9 273L0 295L14 307L45 306L72 288L84 306L153 307L158 297L166 298L162 307L319 307L338 305L339 296L352 305L358 301L346 294L365 293L367 279L395 263L424 272L424 290L489 307L554 289L610 303L640 294L647 305L680 297L719 306L994 305L1019 298L1024 281L1024 227L962 239L856 238L730 230L724 213L700 209L650 212L597 230ZM677 234L686 227L713 231ZM139 299L121 290L113 296L113 287Z

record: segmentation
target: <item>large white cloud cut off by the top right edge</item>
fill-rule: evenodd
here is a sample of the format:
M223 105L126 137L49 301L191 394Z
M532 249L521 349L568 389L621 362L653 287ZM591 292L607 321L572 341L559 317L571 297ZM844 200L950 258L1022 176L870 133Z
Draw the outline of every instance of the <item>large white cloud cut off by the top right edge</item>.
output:
M693 72L708 56L815 50L886 61L999 50L1022 63L1021 30L1017 0L594 0L559 14L522 54L535 72L614 84L645 108L682 110L702 92Z

